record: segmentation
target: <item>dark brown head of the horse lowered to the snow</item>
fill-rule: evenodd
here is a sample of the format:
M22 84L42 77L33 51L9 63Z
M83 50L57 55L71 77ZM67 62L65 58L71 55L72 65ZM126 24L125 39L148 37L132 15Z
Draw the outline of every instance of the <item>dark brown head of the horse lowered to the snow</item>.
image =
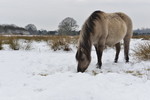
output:
M84 72L90 64L91 57L84 49L80 48L76 53L76 60L78 62L77 71Z

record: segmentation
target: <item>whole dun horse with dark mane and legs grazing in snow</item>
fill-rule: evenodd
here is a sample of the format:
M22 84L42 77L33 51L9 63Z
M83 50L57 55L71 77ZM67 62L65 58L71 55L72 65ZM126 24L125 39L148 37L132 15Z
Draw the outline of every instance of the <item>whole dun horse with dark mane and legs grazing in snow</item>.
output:
M124 13L93 12L85 21L80 31L76 60L77 71L84 72L91 61L91 48L94 45L98 58L97 66L102 66L102 53L105 46L116 47L114 62L117 63L120 52L120 41L124 40L124 55L129 62L129 44L132 37L132 21Z

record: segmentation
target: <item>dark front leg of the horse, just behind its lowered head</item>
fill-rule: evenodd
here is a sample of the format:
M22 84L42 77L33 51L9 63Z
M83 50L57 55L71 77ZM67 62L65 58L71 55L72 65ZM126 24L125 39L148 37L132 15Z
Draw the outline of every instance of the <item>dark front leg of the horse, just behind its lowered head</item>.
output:
M96 54L97 54L97 67L101 69L102 66L102 54L103 54L103 46L95 46Z

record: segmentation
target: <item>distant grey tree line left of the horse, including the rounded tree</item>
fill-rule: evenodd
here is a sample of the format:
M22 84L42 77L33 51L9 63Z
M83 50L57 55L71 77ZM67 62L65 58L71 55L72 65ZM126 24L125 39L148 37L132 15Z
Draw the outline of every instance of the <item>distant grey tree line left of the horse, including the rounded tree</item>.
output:
M25 27L16 25L0 25L0 34L2 35L78 35L78 25L76 20L71 17L63 19L56 31L38 30L34 24L28 24Z

